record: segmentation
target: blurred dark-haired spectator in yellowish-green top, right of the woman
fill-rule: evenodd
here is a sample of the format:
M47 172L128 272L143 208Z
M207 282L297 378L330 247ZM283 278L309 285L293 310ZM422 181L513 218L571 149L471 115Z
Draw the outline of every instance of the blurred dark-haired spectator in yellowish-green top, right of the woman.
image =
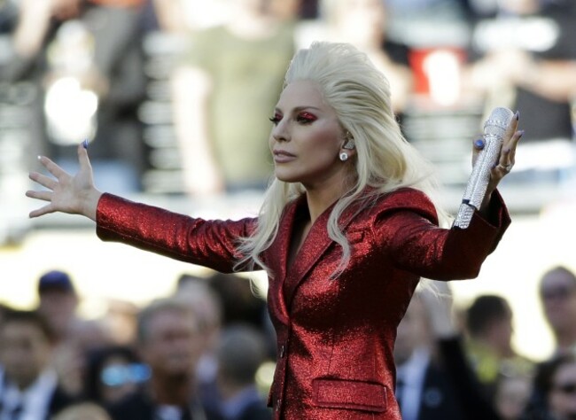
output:
M474 299L466 311L466 332L466 352L491 401L502 375L532 371L533 362L512 347L512 310L501 296L486 294Z

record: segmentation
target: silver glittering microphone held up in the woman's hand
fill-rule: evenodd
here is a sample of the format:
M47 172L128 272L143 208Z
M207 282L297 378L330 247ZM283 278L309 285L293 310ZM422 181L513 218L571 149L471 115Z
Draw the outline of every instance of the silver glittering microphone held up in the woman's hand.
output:
M490 181L490 173L500 157L502 137L513 117L514 113L510 109L498 107L492 110L484 123L484 149L479 152L478 159L472 167L472 173L468 178L462 204L458 208L453 226L461 229L468 228L474 211L478 210L482 204Z

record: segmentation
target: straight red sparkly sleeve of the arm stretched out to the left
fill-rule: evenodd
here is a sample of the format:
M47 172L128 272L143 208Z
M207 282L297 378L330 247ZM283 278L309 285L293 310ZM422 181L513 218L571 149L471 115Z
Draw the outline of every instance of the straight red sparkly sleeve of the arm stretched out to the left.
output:
M206 221L104 194L97 205L97 236L179 261L231 272L241 258L239 237L255 219Z

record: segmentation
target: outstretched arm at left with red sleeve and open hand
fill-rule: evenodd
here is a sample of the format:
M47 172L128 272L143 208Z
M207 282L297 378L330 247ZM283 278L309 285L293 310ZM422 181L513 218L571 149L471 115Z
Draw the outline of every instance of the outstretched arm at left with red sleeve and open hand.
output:
M81 214L97 222L97 235L103 240L120 241L180 261L231 271L239 257L237 239L251 233L252 220L206 222L103 194L94 186L84 144L78 146L78 158L80 171L74 176L51 159L40 158L52 176L31 173L30 179L46 190L27 191L26 195L48 204L31 212L30 217L55 212Z

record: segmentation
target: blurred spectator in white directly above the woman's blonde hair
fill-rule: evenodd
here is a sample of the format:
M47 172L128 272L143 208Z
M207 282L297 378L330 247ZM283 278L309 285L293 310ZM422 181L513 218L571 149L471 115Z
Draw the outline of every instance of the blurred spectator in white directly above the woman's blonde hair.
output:
M399 118L409 104L414 77L409 47L387 35L388 12L382 0L322 0L327 38L353 43L366 52L390 83L393 111Z

